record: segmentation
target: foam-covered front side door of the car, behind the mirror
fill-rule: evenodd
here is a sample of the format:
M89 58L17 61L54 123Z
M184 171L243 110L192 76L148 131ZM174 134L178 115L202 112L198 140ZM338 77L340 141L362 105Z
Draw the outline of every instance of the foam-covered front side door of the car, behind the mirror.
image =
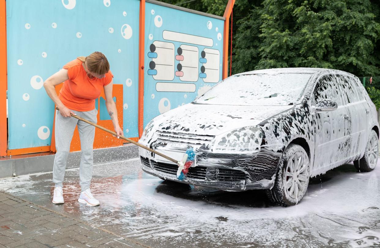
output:
M315 159L313 175L323 173L344 160L347 147L344 145L346 110L340 96L340 84L335 74L321 76L311 96L311 104L315 106L318 100L330 99L337 103L338 108L334 111L314 112L315 123Z

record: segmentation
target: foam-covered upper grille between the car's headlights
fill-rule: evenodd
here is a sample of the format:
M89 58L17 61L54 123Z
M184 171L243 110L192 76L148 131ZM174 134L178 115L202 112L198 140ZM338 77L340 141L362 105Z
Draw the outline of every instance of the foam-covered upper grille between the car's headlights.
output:
M158 135L157 139L159 141L185 143L189 145L208 146L211 145L211 142L215 138L213 135L196 135L165 131L157 131L156 134Z

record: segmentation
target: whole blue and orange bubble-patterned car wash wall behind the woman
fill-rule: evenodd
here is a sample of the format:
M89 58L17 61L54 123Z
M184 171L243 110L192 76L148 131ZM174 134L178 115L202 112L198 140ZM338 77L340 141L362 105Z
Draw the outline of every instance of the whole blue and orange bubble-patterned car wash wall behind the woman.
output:
M2 156L55 151L55 105L43 82L78 56L93 51L107 56L119 123L124 135L134 140L150 119L192 102L222 79L223 17L157 1L7 0L2 4L2 15L6 12L1 24L4 30L6 24L2 68L7 73L2 89L8 90L8 138L0 135L0 146L6 147ZM0 95L2 107L4 97ZM95 108L98 124L113 130L104 93ZM96 130L94 148L120 145L122 141ZM76 131L71 151L78 150Z

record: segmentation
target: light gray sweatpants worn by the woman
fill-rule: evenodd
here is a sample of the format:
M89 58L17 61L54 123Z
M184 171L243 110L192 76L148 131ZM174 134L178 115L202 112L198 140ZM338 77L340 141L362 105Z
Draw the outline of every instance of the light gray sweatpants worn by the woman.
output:
M79 112L73 110L79 117L97 123L98 111ZM63 117L59 111L55 112L55 148L57 153L54 158L53 183L55 187L62 186L65 177L67 156L70 152L70 143L73 138L75 126L78 125L79 138L81 140L81 164L79 168L79 184L82 191L90 188L93 165L93 143L95 127L80 121L74 117Z

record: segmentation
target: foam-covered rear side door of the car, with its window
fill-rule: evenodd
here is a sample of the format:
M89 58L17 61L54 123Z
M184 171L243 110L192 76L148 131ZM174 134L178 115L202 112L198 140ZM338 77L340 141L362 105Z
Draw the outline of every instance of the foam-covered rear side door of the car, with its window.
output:
M347 138L347 161L359 159L367 143L367 114L368 110L367 101L364 95L358 88L356 79L347 75L337 75L339 83L342 84L340 88L342 92L342 102L347 108L349 117Z

